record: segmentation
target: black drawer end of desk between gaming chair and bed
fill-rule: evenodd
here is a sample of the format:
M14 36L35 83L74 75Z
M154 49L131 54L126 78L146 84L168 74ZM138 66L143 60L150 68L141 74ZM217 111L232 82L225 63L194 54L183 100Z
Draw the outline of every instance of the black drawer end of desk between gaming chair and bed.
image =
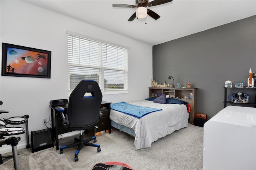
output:
M102 113L102 117L100 118L100 121L97 123L96 132L100 132L102 130L109 130L109 133L111 133L111 125L110 125L110 102L102 101L101 105L104 107L104 110L100 110ZM106 108L106 109L105 109Z

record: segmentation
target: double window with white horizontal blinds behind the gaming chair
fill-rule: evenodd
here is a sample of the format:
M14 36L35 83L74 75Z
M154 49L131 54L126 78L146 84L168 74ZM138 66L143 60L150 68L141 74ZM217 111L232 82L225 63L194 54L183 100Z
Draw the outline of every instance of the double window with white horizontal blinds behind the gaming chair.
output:
M98 82L103 94L127 93L128 49L68 35L68 90L83 79Z

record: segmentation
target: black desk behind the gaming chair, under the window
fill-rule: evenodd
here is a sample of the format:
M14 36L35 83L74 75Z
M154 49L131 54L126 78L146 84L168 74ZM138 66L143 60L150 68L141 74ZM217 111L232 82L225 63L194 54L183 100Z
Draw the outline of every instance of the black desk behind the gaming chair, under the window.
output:
M111 125L110 125L110 119L109 119L111 103L107 102L107 101L102 101L101 104L104 107L106 107L106 109L101 111L104 116L101 118L100 122L96 126L98 126L100 131L109 129L109 133L111 133ZM63 105L61 107L63 107L65 109L65 111L64 111L64 115L65 115L67 112L67 109L68 109L68 104ZM72 132L74 130L66 130L62 126L62 118L61 118L60 112L55 109L55 106L50 105L50 108L51 108L51 117L52 117L52 140L54 140L54 142L56 143L56 150L59 150L58 135L67 133L67 132ZM96 130L96 132L97 132L97 130Z

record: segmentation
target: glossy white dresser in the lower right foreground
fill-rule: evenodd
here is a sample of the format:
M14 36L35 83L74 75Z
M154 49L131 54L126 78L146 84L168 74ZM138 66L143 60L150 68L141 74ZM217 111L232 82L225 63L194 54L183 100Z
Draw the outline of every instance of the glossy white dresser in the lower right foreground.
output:
M204 124L205 170L256 170L256 108L228 106Z

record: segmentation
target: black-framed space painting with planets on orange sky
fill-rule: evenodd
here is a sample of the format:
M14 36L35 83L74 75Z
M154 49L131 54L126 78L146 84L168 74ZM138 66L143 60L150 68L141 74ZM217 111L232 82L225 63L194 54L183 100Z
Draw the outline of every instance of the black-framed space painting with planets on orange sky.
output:
M51 51L2 43L2 75L51 78Z

